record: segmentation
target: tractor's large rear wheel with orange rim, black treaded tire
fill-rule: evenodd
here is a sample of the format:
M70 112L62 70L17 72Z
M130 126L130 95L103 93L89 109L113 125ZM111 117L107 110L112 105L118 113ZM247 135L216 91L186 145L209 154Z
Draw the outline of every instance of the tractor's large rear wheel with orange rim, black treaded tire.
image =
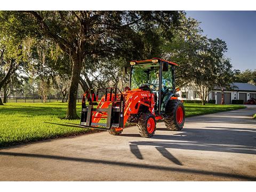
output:
M180 131L185 123L185 108L180 100L170 100L166 106L167 118L164 123L167 130Z

